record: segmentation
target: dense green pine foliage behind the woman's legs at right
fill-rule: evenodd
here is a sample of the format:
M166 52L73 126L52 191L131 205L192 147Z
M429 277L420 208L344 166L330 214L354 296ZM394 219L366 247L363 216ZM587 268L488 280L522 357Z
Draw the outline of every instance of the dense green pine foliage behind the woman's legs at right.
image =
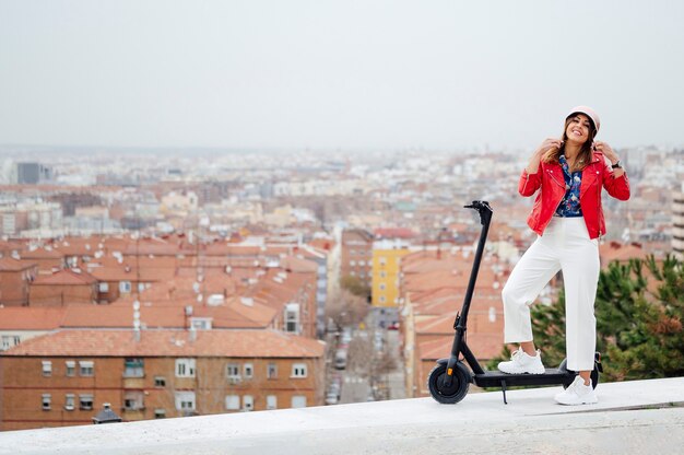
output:
M602 381L684 375L684 266L675 257L611 262L599 277L594 313ZM532 306L531 314L544 363L558 365L565 358L565 295ZM490 368L509 355L506 348Z

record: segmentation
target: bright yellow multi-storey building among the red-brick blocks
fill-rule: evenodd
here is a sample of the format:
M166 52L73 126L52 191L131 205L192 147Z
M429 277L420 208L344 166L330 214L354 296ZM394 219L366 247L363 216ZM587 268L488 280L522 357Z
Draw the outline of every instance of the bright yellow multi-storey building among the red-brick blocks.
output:
M399 301L399 265L409 245L401 241L373 244L373 306L397 307Z

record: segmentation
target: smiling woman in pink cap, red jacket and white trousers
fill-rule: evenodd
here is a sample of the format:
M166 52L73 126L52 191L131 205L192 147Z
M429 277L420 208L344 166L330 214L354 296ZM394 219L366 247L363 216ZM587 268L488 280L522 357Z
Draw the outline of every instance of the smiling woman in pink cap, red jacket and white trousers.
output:
M532 340L530 305L563 270L567 368L579 375L556 395L562 405L598 402L590 374L595 350L598 238L605 234L601 188L620 200L629 199L629 182L617 154L608 143L593 141L600 126L591 108L575 107L565 119L562 139L546 139L530 158L518 190L526 197L538 192L528 225L539 237L520 258L502 292L505 342L520 347L498 369L511 374L542 374L541 353Z

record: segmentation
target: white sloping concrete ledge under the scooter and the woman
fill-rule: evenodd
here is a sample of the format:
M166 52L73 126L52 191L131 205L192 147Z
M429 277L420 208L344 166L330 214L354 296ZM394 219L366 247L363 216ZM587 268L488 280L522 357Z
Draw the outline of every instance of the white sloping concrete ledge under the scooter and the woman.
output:
M684 377L600 384L565 407L561 387L0 433L0 454L677 453Z

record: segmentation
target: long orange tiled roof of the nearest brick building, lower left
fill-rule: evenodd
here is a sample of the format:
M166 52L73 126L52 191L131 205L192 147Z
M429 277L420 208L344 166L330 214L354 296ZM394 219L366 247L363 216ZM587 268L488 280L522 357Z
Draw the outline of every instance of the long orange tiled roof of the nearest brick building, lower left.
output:
M32 338L0 357L320 358L326 345L275 330L59 330Z

